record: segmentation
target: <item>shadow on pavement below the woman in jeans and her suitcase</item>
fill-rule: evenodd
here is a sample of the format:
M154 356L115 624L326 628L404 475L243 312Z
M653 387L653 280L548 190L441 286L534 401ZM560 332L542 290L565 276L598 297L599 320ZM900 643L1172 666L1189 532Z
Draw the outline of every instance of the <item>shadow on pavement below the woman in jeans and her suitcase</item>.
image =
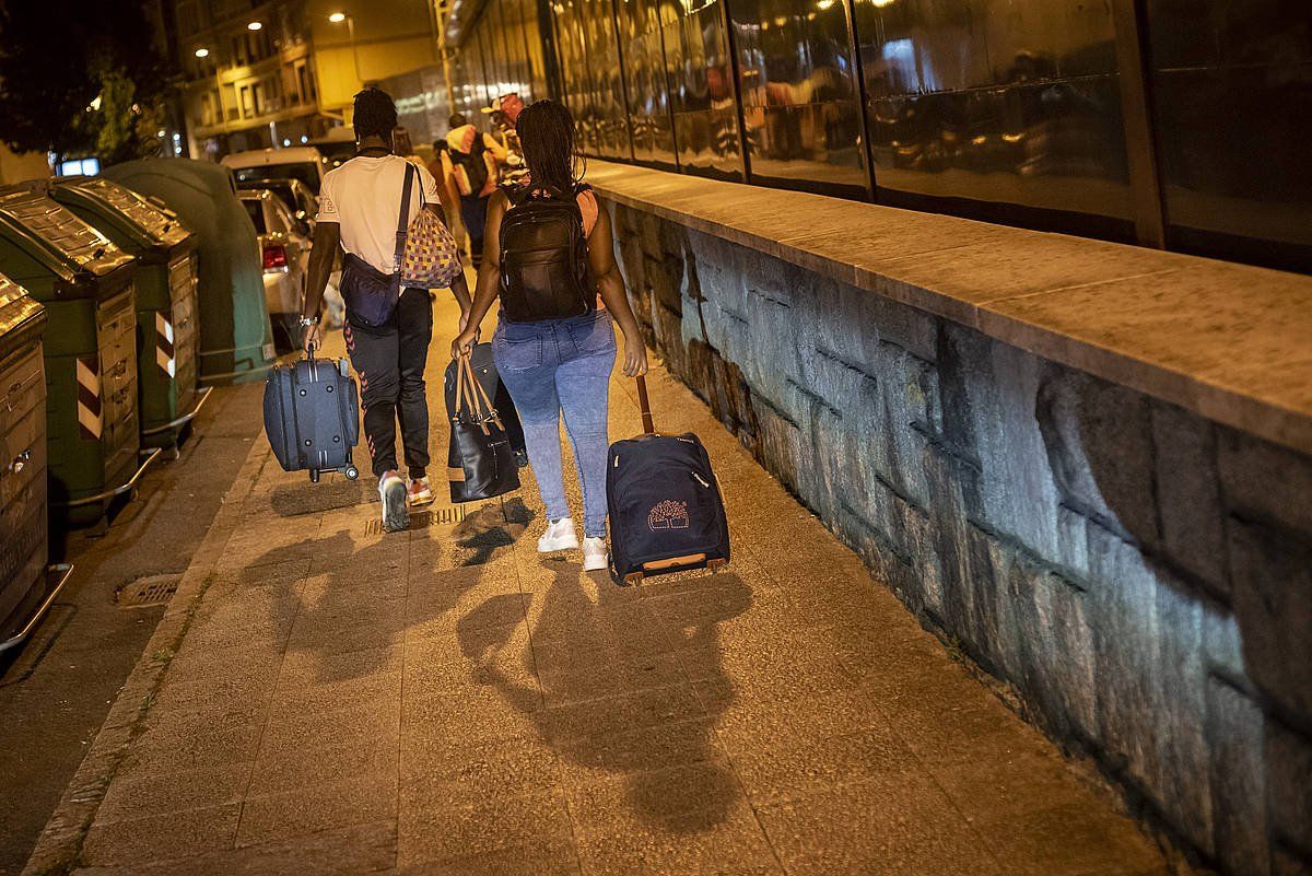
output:
M613 585L604 582L600 586L610 587ZM710 576L706 586L715 593L715 607L708 612L698 614L690 626L673 629L669 633L673 637L673 641L669 643L672 650L663 657L673 658L681 653L695 652L701 661L697 673L698 687L710 691L710 695L698 700L699 706L694 713L666 723L660 723L657 719L656 721L639 721L636 727L617 729L602 719L593 736L589 736L586 730L583 732L583 736L562 736L552 712L558 711L558 706L560 711L567 711L580 703L565 698L563 703L548 702L543 708L542 695L537 687L510 678L500 669L505 664L497 658L502 649L509 647L509 641L489 643L485 636L484 615L500 615L505 608L500 605L501 601L518 599L518 595L497 595L484 601L457 622L457 635L464 657L480 665L483 675L491 679L509 704L533 720L541 738L550 744L562 758L573 761L585 770L600 770L622 776L625 800L643 821L660 824L666 830L681 834L701 833L723 822L728 817L733 801L740 797L736 779L728 763L715 754L714 728L716 719L732 702L732 687L720 665L715 644L719 639L718 624L740 615L752 603L750 587L735 574ZM568 623L565 623L567 618ZM602 607L592 602L584 591L579 567L573 563L559 564L555 581L543 595L542 612L530 629L530 641L538 640L539 633L547 629L569 631L565 637L572 636L581 641L614 641L617 632L622 636L632 633L635 640L642 640L651 632L617 631L613 622L604 618ZM638 657L639 661L644 657L636 652L628 652L626 656ZM647 654L646 657L657 656ZM534 657L529 650L522 656L522 660L526 669L534 667ZM648 667L643 666L643 669ZM605 662L584 661L576 664L565 661L560 666L552 666L551 686L567 691L589 691L584 695L586 698L590 695L596 674L607 671L623 671L623 666L607 666ZM681 687L681 679L682 677L674 681L664 692ZM659 696L661 692L656 688L643 688L642 685L621 686L602 692L594 703L602 709L606 708L607 702L613 703L615 708L625 708L625 703L630 698L640 699L644 694ZM693 696L691 691L687 690L684 694ZM672 757L663 759L657 755L653 761L652 751L647 749L648 744L652 747L668 747ZM674 767L693 767L695 778L690 779L687 771ZM691 800L690 782L695 782L695 804L693 805L689 805Z

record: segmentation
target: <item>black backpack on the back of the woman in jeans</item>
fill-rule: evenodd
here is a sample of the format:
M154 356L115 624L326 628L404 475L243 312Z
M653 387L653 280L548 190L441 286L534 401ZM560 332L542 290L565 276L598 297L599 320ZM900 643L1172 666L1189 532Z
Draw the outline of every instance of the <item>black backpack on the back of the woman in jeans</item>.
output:
M583 316L597 309L597 283L588 266L579 193L538 197L508 191L501 219L501 307L512 323Z

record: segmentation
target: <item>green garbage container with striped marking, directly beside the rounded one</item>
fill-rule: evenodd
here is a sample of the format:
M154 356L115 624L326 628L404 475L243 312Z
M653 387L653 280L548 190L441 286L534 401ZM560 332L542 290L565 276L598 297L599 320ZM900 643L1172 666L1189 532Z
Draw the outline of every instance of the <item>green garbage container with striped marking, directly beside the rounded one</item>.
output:
M195 236L177 214L117 182L34 184L136 257L136 379L142 445L174 447L210 389L197 391Z

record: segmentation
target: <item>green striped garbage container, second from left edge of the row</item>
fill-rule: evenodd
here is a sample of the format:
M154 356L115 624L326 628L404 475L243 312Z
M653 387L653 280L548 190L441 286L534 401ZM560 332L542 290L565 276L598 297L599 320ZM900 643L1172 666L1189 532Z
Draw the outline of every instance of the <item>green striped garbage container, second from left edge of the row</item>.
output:
M39 191L0 188L0 273L46 306L46 431L56 521L104 525L138 460L133 257Z

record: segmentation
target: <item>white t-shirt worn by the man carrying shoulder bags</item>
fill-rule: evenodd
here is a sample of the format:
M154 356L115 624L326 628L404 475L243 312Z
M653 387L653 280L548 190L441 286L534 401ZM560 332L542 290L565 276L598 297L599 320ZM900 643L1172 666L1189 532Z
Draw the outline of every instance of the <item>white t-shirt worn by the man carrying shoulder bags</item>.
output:
M399 155L370 157L358 155L340 168L329 170L319 188L318 222L341 226L341 247L370 265L392 273L396 253L396 219L401 211L401 184L405 168L412 167L419 185L411 190L411 210L405 224L415 220L426 199L440 205L437 181L428 168L407 161ZM424 198L420 198L420 185Z

